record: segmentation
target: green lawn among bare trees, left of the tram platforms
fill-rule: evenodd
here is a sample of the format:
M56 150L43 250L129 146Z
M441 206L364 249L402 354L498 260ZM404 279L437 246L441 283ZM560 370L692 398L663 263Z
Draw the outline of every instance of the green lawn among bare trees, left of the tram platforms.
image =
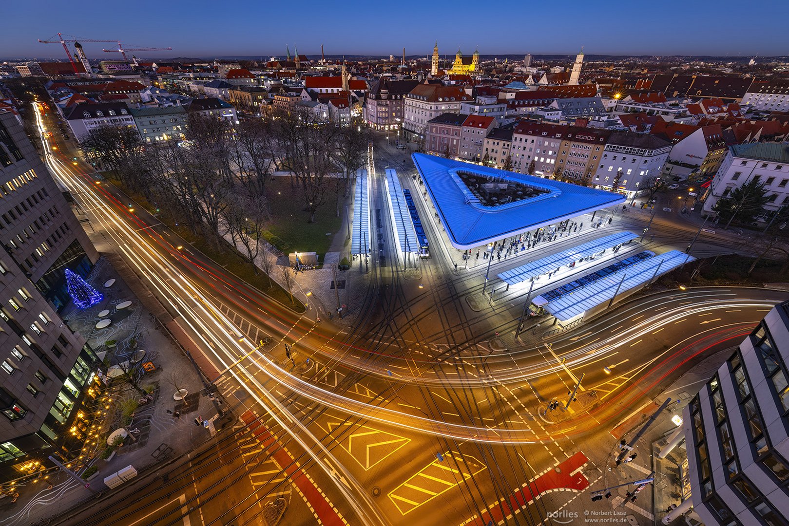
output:
M290 188L290 177L273 177L266 182L271 209L271 223L267 230L284 241L282 248L285 250L282 252L317 252L323 263L323 255L329 251L345 214L342 204L345 198L341 192L340 217L337 217L334 188L331 188L334 185L330 182L329 186L326 203L316 211L315 222L308 223L309 212L304 209L304 197L299 188Z

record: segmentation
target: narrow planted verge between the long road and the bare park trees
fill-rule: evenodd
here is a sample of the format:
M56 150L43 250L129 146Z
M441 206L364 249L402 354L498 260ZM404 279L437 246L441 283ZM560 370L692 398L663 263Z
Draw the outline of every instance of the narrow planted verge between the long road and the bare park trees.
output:
M151 205L151 203L148 203L144 196L135 192L130 192L128 189L124 188L118 180L112 178L111 175L112 174L109 172L103 173L103 176L107 177L108 181L118 186L118 188L121 188L122 191L125 192L127 196L131 197L137 204L139 204L141 207L144 207L145 210L151 214L155 214L156 207ZM259 271L256 273L249 261L244 256L241 256L241 253L235 248L231 247L230 244L223 244L223 250L220 251L215 248L213 244L211 244L205 237L196 236L185 226L175 226L175 221L172 216L167 214L159 214L157 217L159 218L159 221L163 222L171 230L177 233L178 236L182 237L186 242L202 252L205 256L208 256L208 258L213 259L215 263L219 264L219 266L223 267L227 272L230 272L230 274L233 274L239 281L245 282L248 285L252 285L256 289L266 293L267 296L271 297L272 299L279 301L279 303L286 305L289 308L292 308L294 311L301 313L306 310L304 304L297 300L296 297L294 297L294 300L291 301L290 294L288 294L285 289L282 289L282 287L279 286L277 282L274 280L269 280L263 270L259 269ZM274 271L279 272L279 267L275 267Z

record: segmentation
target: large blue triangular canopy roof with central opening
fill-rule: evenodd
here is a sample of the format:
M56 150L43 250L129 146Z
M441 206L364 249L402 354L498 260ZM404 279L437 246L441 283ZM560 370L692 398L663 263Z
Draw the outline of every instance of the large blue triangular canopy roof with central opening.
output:
M435 155L413 154L454 248L465 250L504 237L548 226L587 212L623 203L625 196L594 188L497 170ZM516 185L523 196L492 204L466 181L478 177L485 184Z

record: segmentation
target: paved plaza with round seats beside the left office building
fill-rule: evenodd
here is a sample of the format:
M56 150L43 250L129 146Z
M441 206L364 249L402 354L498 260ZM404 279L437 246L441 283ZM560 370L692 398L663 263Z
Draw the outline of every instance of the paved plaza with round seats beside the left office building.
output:
M115 282L105 287L104 284L110 279ZM211 431L202 425L197 426L194 419L200 416L201 420L210 420L217 416L217 410L205 392L204 384L193 364L178 345L171 341L163 324L133 295L129 285L122 280L106 257L99 259L86 281L102 293L104 299L87 309L69 305L62 313L65 323L68 323L72 330L84 335L88 345L108 367L117 367L127 361L137 363L135 360L151 361L156 367L154 372L145 374L139 382L140 386L154 387L154 401L140 405L133 412L131 423L125 427L128 430L139 430L133 434L136 442L126 438L123 446L118 448L109 461L100 457L106 447L103 443L107 441L106 432L99 433L98 443L90 448L91 452L96 451L99 454L85 465L99 468L99 474L91 480L91 486L102 491L107 489L103 483L104 477L119 469L133 465L141 472L206 442L211 438ZM131 306L118 309L118 304L126 300L132 302ZM112 323L107 328L97 330L95 323L99 320L99 312L104 310L110 313L102 319L110 319ZM136 347L132 345L133 338L136 339ZM106 345L107 341L111 340L116 341L114 347ZM180 389L189 392L185 401L174 399L174 382ZM112 392L112 384L104 387L103 394ZM125 389L123 396L129 400L140 398L136 390L130 388ZM180 412L180 418L171 414L175 411ZM97 417L95 423L104 425L100 418ZM215 420L212 424L214 423L216 428L228 424L226 419ZM157 453L158 458L155 458L153 455L157 450L163 454ZM4 509L5 517L0 520L0 525L30 524L40 517L64 513L92 497L91 491L63 474L50 476L50 483L51 489L41 485L20 488L20 497L13 507Z

